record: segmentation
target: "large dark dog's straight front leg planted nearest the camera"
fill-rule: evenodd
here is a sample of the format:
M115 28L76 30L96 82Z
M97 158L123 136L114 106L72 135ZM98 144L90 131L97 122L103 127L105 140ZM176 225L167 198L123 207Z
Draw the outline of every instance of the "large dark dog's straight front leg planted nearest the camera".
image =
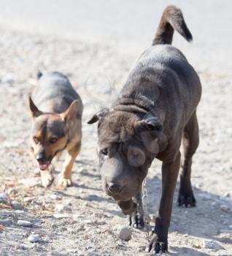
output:
M162 165L162 197L155 219L155 230L147 251L162 253L168 250L168 231L171 219L171 207L174 190L177 184L179 173L180 153L171 162L163 162Z

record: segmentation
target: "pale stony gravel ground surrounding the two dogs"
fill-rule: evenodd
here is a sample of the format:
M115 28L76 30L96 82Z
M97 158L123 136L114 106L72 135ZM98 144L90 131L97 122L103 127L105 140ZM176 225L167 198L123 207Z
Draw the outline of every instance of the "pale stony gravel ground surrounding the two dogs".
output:
M0 33L0 192L9 197L0 194L0 255L150 255L144 252L145 231L133 229L130 241L117 238L117 228L127 220L102 192L96 127L86 124L117 95L140 53L4 27ZM196 58L196 48L192 54ZM201 144L193 163L198 204L174 205L169 254L232 255L232 80L220 67L217 72L207 69L206 62L199 67ZM56 187L56 181L49 189L42 188L28 153L28 94L38 69L68 75L85 105L82 151L73 168L74 187L67 189ZM62 159L57 172L61 164ZM150 214L157 211L161 196L160 167L160 162L153 162L147 179ZM18 220L29 221L29 227ZM28 241L33 234L39 235L37 241Z

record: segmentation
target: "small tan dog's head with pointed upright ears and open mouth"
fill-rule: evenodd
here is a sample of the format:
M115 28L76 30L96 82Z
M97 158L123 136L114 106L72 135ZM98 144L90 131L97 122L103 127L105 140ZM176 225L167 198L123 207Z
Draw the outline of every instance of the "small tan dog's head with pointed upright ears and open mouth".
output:
M39 163L41 170L47 170L58 152L63 151L69 143L69 125L76 117L78 100L61 114L43 113L30 97L30 110L33 118L30 144L31 152Z

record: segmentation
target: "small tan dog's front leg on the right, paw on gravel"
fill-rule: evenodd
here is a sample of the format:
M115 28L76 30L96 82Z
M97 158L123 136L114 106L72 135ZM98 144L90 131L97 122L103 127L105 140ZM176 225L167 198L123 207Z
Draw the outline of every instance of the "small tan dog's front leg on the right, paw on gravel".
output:
M73 148L67 151L66 159L63 163L63 170L61 172L61 177L59 178L59 181L58 181L59 186L70 187L72 185L71 168L79 152L80 152L80 143L77 143L76 146L74 146Z

